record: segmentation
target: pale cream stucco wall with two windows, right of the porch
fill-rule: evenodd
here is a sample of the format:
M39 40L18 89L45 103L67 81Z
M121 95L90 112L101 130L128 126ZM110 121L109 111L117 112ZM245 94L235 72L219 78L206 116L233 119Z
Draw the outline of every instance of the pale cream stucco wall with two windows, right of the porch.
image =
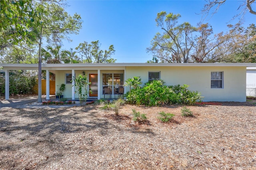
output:
M140 76L148 81L149 71L161 71L166 85L190 85L188 89L198 91L203 101L246 101L246 67L126 67L126 79ZM211 88L211 72L224 72L224 88Z

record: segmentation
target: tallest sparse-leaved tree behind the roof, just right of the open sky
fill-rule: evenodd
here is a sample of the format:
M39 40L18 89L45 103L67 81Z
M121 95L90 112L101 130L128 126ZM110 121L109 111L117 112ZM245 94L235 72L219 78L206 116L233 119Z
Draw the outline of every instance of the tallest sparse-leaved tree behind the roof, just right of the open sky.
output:
M147 48L153 56L158 57L161 62L187 63L190 50L193 47L193 32L196 28L188 22L178 24L180 14L162 11L157 14L156 25L163 32L156 33L151 41L151 47Z

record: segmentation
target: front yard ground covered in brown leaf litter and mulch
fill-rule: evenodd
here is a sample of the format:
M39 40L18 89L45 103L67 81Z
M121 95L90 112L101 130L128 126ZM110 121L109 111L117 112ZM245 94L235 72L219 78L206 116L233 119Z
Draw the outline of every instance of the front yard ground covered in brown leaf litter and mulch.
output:
M0 169L256 169L256 102L0 110ZM132 109L150 124L132 121ZM170 123L157 117L175 116Z

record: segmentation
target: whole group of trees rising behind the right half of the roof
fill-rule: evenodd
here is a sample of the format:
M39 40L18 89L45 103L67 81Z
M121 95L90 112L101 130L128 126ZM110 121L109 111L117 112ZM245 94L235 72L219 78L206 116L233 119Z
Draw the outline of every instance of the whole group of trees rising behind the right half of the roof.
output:
M148 63L255 62L254 24L247 29L240 23L228 25L228 32L214 35L210 24L178 24L180 17L166 12L157 14L156 25L162 32L156 33L147 48L153 54Z

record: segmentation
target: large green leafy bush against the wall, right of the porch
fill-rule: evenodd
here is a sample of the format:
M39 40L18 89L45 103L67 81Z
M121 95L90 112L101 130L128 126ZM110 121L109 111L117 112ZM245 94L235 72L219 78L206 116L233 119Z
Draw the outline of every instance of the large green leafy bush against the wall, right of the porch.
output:
M163 80L154 80L145 83L143 87L131 89L125 94L126 101L136 105L158 106L166 104L192 105L201 99L200 93L187 89L188 85L167 86L164 83Z

